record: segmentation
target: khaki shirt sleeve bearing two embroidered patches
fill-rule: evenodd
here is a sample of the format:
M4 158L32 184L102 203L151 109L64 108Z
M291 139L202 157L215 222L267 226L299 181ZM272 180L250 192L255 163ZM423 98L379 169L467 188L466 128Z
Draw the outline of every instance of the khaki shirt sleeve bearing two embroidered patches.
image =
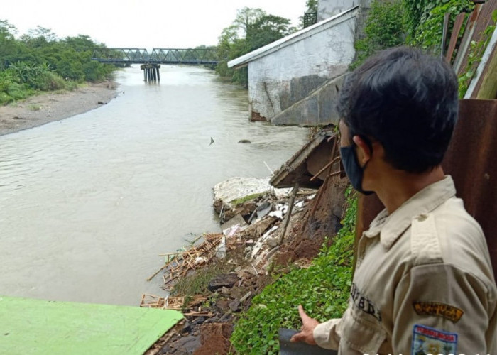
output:
M496 354L489 297L480 278L457 266L414 266L395 289L393 352L439 354L455 346L457 354Z

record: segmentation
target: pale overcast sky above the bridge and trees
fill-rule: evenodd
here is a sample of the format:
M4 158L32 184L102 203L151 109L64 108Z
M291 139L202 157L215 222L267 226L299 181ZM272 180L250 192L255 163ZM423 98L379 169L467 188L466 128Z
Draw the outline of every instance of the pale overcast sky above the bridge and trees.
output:
M305 0L11 0L1 6L0 20L18 35L41 26L59 38L89 35L109 48L190 48L216 45L245 6L297 26Z

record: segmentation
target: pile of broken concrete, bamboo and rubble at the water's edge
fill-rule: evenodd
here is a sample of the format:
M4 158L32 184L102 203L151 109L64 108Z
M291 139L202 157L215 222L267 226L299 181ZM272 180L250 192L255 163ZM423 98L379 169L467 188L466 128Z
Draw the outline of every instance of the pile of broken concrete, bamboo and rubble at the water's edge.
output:
M244 180L238 181L243 185ZM225 190L214 189L214 210L222 233L204 234L185 251L163 254L166 263L155 275L164 271L164 288L170 290L178 278L208 268L212 263L227 264L231 272L209 280L206 295L143 295L141 307L181 310L186 317L182 325L165 334L161 346L156 345L148 354L212 354L212 342L202 342L207 339L207 333L211 339L219 338L219 346L226 349L229 346L226 334L231 334L226 326L231 327L234 315L248 308L251 298L272 281L268 269L273 256L293 237L290 232L285 238L282 236L285 219L288 218L288 231L291 231L316 193L310 189L295 191L290 212L291 189L268 188L255 193L252 189L245 192L251 198L243 199L236 192L236 184L231 181L228 185L231 194L223 195ZM245 201L234 203L237 199ZM306 263L300 261L302 265Z

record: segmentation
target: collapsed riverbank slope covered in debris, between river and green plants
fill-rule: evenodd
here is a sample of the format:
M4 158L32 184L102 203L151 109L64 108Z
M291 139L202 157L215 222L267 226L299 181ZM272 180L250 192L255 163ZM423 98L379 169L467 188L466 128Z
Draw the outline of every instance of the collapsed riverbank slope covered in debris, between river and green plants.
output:
M260 190L268 184L259 182ZM239 188L232 189L235 185ZM315 229L315 239L307 239L302 232L310 220L319 219L314 214L317 190L300 189L290 197L290 189L270 189L229 202L234 196L231 190L249 193L253 189L247 186L256 185L244 178L216 185L214 211L223 234L204 234L199 238L202 243L168 254L160 271L165 269L164 289L169 295L143 295L141 307L181 310L185 320L146 355L231 354L234 324L249 310L253 297L289 271L310 266L322 250L324 235ZM265 334L268 339L274 337L273 330Z

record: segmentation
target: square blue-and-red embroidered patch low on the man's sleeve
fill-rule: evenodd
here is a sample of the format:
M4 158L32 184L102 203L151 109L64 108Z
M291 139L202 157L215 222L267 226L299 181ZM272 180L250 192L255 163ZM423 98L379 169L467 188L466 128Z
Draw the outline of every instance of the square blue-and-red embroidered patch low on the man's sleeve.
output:
M457 333L414 324L411 354L457 354Z

